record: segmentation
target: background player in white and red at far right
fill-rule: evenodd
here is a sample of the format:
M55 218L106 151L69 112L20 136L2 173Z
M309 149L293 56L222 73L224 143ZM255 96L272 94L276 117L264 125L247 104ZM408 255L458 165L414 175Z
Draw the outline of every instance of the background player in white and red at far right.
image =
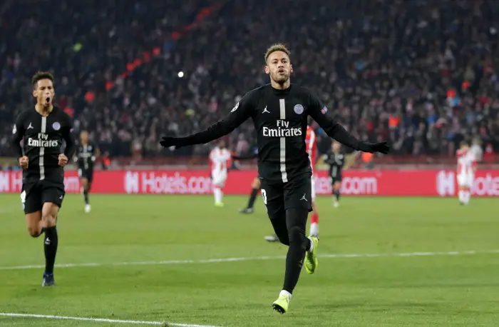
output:
M456 151L456 157L458 158L459 202L468 205L471 197L471 187L475 179L475 156L470 151L468 143L463 141L461 142L461 148Z

